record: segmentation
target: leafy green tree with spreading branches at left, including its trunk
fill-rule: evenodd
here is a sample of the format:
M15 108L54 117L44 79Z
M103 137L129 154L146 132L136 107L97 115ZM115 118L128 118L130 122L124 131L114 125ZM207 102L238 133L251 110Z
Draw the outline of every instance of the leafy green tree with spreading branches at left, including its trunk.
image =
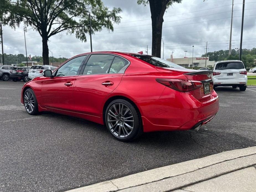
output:
M0 20L12 28L21 22L31 26L42 37L43 64L49 64L48 40L60 32L75 33L86 41L89 33L89 12L92 33L120 22L120 8L109 10L100 0L0 0Z

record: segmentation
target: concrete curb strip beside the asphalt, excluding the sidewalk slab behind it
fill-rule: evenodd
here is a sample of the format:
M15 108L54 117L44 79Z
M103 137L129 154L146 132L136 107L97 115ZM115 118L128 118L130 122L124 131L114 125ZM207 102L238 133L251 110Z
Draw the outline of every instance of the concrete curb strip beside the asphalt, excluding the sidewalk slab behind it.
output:
M170 191L255 164L256 147L248 147L96 183L69 192Z

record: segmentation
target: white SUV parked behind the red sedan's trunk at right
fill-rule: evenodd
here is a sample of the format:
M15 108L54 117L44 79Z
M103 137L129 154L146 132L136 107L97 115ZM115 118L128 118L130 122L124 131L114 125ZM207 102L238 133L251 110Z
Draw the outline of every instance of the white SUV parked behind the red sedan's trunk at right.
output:
M239 87L245 91L247 85L247 71L244 63L239 60L218 61L213 66L214 88L218 86Z

